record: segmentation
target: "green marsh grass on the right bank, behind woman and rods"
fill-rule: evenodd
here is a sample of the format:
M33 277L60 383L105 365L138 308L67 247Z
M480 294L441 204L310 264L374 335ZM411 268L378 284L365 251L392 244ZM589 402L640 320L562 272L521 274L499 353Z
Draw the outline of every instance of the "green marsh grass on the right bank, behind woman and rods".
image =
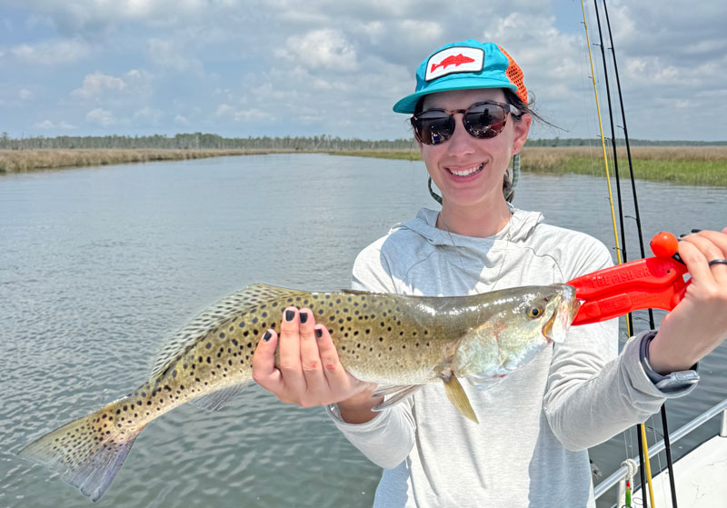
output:
M633 146L633 174L642 180L673 184L714 185L727 187L727 146ZM419 151L351 151L337 155L422 160ZM615 164L611 146L606 147L609 173ZM618 149L618 169L622 178L629 176L626 149ZM529 147L523 149L523 172L547 174L592 174L603 176L603 149L595 146Z

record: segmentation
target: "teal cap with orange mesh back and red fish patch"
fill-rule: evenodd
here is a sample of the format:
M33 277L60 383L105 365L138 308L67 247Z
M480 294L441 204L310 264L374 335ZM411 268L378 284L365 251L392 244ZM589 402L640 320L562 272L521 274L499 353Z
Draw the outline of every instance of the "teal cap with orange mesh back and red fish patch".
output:
M427 57L416 70L414 93L393 105L393 111L412 114L423 95L474 88L508 88L528 102L523 71L513 58L499 45L468 39L443 45Z

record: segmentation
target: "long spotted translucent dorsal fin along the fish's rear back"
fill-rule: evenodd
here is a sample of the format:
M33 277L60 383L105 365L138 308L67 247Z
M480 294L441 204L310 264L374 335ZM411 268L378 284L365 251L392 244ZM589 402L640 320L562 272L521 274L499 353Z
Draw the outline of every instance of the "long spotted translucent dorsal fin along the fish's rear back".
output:
M268 284L252 284L242 291L230 294L223 300L204 309L192 321L170 337L160 348L152 367L152 378L162 374L167 365L171 364L178 354L186 351L201 336L231 319L245 309L264 304L284 297L306 294L303 291L287 289Z

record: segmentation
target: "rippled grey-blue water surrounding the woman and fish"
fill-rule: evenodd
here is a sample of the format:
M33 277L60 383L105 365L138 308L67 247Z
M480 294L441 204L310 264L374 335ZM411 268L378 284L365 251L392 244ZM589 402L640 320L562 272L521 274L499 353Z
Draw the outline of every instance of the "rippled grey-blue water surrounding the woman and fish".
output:
M226 294L254 282L347 287L355 254L435 205L425 183L422 163L324 154L0 178L0 506L87 506L15 453L128 393L160 338ZM724 225L723 188L638 185L647 240ZM515 203L611 245L605 189L600 177L525 174ZM702 362L697 390L669 403L672 429L727 396L725 365L725 346ZM716 429L682 440L675 454ZM610 473L636 453L631 443L617 436L593 460ZM323 411L254 385L219 413L183 406L150 424L97 504L367 506L379 474Z

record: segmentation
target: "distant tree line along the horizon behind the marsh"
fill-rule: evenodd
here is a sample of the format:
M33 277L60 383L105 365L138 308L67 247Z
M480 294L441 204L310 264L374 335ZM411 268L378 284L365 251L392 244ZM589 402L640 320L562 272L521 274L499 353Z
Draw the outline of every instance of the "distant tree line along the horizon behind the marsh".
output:
M632 145L723 145L727 141L652 141L632 139ZM528 139L526 146L588 146L600 144L600 139L560 138ZM609 140L610 144L611 141ZM622 139L617 144L624 144ZM219 134L165 134L154 135L105 135L105 136L69 136L55 137L35 136L12 138L7 133L0 135L0 150L38 150L38 149L74 149L74 148L120 148L120 149L225 149L225 150L291 150L304 152L336 152L351 150L411 150L413 138L394 140L364 140L357 138L341 138L326 134L314 136L248 136L223 137Z

